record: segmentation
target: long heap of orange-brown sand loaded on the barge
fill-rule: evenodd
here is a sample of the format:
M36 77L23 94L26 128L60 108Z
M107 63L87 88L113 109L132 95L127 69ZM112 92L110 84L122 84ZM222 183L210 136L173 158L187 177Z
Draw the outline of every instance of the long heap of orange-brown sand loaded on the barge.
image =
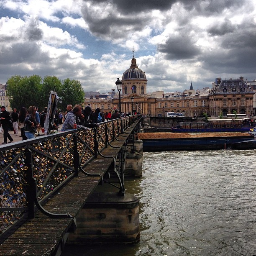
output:
M168 139L168 138L208 138L208 137L237 137L251 136L249 133L138 133L138 138L146 139Z

